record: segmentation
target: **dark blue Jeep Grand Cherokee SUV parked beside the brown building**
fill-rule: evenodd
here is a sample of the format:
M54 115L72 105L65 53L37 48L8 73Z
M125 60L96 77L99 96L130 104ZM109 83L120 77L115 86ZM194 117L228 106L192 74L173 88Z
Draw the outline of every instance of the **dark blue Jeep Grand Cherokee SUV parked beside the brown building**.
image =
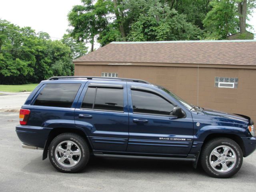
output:
M253 124L144 80L70 76L35 88L16 132L23 148L43 149L61 172L81 171L94 155L200 162L210 176L228 178L256 148Z

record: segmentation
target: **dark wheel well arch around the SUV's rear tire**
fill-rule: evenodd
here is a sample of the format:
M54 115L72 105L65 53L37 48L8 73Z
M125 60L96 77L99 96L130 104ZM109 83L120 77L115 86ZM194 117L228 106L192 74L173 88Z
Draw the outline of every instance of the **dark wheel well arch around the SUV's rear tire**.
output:
M45 143L45 146L44 146L44 152L43 152L43 160L47 158L47 155L48 155L48 146L50 145L50 143L52 142L52 140L58 136L59 134L62 134L62 133L76 133L80 136L82 136L90 150L92 151L92 146L90 145L90 142L88 141L88 138L86 136L86 134L82 131L82 130L79 130L79 129L72 129L72 128L54 128L51 130L51 132L49 133L49 136L48 136L48 139Z

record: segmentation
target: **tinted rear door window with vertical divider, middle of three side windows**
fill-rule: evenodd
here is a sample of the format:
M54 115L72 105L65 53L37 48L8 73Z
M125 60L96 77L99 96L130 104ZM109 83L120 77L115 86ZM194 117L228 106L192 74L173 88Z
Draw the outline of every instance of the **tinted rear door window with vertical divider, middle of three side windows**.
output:
M124 111L123 99L123 89L89 87L81 108Z

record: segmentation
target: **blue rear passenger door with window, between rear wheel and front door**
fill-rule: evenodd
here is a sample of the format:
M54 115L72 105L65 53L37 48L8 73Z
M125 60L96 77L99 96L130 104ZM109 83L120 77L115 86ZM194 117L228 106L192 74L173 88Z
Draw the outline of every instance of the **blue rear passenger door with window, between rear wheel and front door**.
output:
M128 143L126 82L90 81L75 109L76 126L84 129L96 151L124 152Z

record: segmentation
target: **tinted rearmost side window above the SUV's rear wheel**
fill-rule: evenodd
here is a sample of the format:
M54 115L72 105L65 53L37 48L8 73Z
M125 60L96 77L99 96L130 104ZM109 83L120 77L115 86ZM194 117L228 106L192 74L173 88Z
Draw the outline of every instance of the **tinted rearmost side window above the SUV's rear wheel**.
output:
M81 84L46 84L34 105L70 108Z

